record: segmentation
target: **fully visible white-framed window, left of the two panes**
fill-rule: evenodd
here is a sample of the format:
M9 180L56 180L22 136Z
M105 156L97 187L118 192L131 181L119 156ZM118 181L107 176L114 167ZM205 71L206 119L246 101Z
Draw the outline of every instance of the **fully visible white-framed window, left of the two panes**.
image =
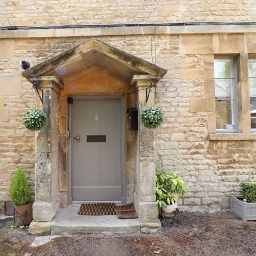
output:
M232 58L214 59L217 132L238 131L237 79L235 78L236 73Z

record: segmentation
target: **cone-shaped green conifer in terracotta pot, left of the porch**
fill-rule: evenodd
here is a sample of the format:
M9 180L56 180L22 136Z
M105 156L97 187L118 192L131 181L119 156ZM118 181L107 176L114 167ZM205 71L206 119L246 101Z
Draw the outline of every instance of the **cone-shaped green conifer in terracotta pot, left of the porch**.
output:
M29 225L33 220L33 201L29 183L28 180L26 180L26 174L22 171L22 169L18 169L14 176L12 176L9 194L12 203L14 203L19 222L22 225Z

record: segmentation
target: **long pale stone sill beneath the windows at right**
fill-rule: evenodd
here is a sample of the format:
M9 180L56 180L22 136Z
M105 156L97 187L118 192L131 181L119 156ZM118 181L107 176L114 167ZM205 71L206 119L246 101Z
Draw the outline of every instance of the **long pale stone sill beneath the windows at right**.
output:
M209 140L256 140L256 133L211 133Z

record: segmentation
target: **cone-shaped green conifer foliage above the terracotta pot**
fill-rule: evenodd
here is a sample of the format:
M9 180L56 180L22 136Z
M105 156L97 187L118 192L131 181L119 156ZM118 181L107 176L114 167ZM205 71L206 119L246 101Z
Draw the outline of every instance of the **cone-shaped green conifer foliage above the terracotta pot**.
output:
M28 180L26 180L26 174L22 169L18 169L14 176L12 176L9 194L12 203L15 205L26 205L31 203L32 198L29 183Z

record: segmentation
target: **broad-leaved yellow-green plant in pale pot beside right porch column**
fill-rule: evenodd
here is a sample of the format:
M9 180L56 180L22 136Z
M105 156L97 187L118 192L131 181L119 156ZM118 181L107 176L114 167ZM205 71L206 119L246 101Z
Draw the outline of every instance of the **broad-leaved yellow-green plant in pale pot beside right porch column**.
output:
M178 207L177 200L180 194L183 196L188 190L188 186L178 173L157 170L156 204L159 206L160 215L166 218L172 217Z

